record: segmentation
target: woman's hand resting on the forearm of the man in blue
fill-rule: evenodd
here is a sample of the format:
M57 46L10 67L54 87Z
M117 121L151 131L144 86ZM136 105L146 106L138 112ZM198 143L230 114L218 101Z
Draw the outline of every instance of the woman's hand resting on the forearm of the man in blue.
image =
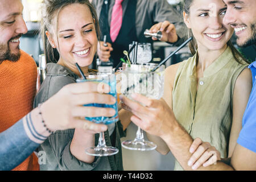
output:
M196 138L189 152L193 154L188 160L188 166L192 166L192 169L196 170L200 166L210 166L216 164L217 160L221 160L220 152L215 147L211 146L208 142L203 142L200 138Z

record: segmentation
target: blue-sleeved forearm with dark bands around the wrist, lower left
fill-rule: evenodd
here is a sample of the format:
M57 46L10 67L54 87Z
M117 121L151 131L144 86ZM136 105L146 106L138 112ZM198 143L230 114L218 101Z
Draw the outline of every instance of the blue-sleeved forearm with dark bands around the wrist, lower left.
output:
M49 134L40 122L35 109L0 134L0 170L15 168L44 142Z

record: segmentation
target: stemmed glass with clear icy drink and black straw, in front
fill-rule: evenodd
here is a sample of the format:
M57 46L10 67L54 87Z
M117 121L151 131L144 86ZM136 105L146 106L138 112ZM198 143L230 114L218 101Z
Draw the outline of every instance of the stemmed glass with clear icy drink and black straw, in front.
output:
M157 64L125 64L122 68L121 93L133 100L134 93L142 94L150 99L159 100L164 92L164 65L151 72ZM125 140L122 147L129 150L149 151L156 148L156 144L144 140L143 131L138 127L137 134L133 140Z

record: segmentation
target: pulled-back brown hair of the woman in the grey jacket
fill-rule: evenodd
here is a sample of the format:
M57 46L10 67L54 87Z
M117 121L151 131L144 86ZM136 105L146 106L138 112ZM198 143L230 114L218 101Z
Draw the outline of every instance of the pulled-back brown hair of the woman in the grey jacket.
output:
M62 10L65 6L72 5L73 3L88 6L90 13L92 14L92 18L94 19L97 39L100 40L100 24L98 23L98 16L96 10L88 0L44 0L42 3L43 18L41 21L40 33L44 43L44 54L46 55L47 63L57 62L60 55L57 49L52 48L51 43L49 43L46 37L46 31L49 31L52 35L54 31L57 33L57 30L53 30L53 27L54 24L57 24L56 21L60 10Z

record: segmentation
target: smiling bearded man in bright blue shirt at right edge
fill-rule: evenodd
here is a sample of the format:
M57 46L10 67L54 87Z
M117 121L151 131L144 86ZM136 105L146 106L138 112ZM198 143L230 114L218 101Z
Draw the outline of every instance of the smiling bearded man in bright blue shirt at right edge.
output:
M252 7L256 7L256 1L223 1L227 6L224 23L234 28L237 35L237 44L239 46L255 44L256 11ZM138 94L134 95L133 99L141 102L146 107L137 104L137 102L128 100L125 97L121 97L121 100L125 105L129 106L131 110L136 110L137 114L143 114L143 119L138 118L138 116L133 116L131 117L131 121L147 133L162 138L164 142L167 143L171 152L175 154L176 159L184 169L256 170L256 62L252 63L249 68L253 75L253 90L251 91L251 96L245 114L243 115L240 136L238 137L232 157L230 159L218 161L215 163L216 165L208 167L201 166L204 162L200 161L200 155L206 151L204 155L208 155L208 158L210 158L210 156L213 155L213 152L207 152L207 150L212 146L210 146L209 143L202 142L199 138L193 140L187 131L185 131L176 121L172 110L168 107L166 102L163 100L148 100L146 97ZM167 114L159 115L159 119L157 120L151 119L147 118L147 115L145 114L147 113L147 109L164 110ZM192 155L193 152L195 152L194 155ZM199 153L200 155L198 155ZM195 163L196 160L197 162ZM191 166L193 167L191 168Z

